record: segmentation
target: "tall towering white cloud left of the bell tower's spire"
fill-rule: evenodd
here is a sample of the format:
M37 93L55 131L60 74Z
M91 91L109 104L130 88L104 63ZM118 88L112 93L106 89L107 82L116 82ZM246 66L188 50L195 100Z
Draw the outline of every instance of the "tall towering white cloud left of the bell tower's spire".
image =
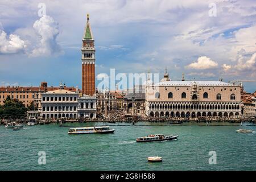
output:
M32 50L30 56L49 56L61 53L60 46L56 42L57 35L59 35L59 25L51 16L42 16L35 21L33 27L40 36L40 43Z

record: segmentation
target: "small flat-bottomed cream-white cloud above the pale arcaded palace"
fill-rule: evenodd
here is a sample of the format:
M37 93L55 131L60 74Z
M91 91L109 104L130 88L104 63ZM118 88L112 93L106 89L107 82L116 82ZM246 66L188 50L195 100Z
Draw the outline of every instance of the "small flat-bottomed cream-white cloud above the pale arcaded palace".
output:
M197 59L197 61L187 65L185 68L189 68L189 69L210 69L210 68L216 68L216 67L218 67L218 63L211 60L209 57L201 56Z

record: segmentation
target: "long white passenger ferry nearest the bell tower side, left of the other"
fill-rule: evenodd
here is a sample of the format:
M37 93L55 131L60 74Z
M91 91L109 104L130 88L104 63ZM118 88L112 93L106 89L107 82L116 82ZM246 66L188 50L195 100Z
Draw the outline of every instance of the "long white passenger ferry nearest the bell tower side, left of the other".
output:
M93 126L93 127L74 127L68 130L68 134L91 134L91 133L114 133L114 129L109 126Z

